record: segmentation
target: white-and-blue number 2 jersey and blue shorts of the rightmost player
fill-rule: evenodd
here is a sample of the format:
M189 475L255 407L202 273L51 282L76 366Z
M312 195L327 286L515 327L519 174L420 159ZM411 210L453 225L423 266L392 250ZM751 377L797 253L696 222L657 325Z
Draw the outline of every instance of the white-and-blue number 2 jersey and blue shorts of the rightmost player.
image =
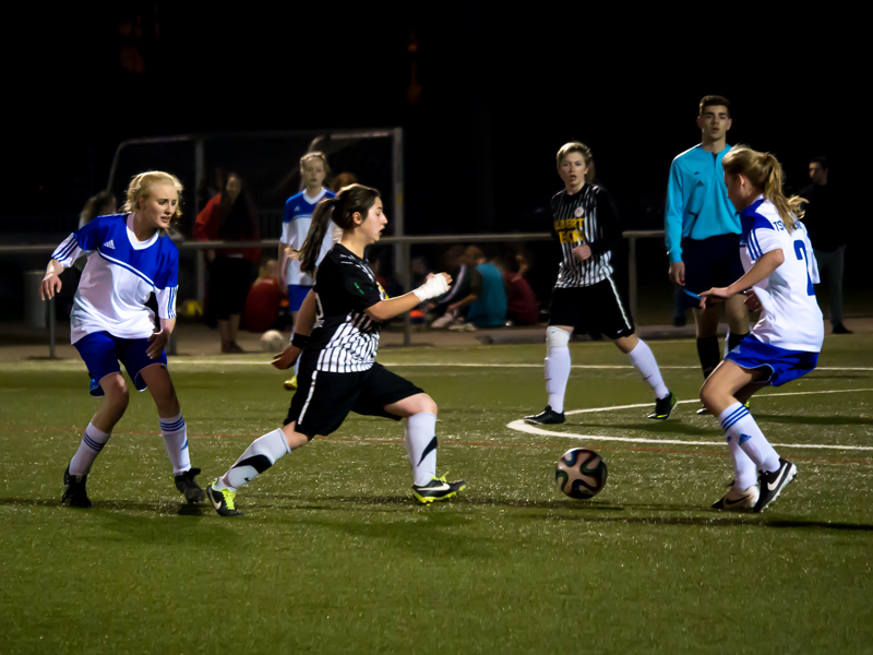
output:
M789 233L776 206L758 196L742 213L740 259L749 272L766 253L781 249L782 264L752 287L761 319L728 359L745 369L766 367L774 386L815 368L824 342L824 319L815 299L818 266L806 228Z

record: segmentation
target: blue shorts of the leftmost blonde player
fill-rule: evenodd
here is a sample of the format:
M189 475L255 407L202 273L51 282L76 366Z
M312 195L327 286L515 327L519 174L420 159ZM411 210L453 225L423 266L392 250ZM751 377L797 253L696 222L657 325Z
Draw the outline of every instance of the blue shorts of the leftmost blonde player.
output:
M119 361L124 364L130 379L136 391L145 391L145 381L140 371L153 364L167 366L167 353L162 352L160 357L151 359L145 352L152 344L147 338L121 338L108 332L93 332L73 344L82 356L91 376L88 393L94 397L104 395L100 380L109 373L120 373Z

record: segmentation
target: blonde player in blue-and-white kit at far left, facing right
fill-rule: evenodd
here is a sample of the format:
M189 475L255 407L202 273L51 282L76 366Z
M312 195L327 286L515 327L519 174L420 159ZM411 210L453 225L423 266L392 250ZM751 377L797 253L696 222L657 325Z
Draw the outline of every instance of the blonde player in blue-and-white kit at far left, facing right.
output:
M87 366L91 395L104 401L63 474L62 502L70 507L91 507L87 475L128 407L130 394L119 362L134 386L147 388L157 405L176 488L188 502L205 498L194 480L200 469L191 468L186 422L164 353L176 326L179 288L179 251L167 229L181 216L181 191L179 180L167 172L137 175L128 187L122 213L99 216L71 234L52 253L43 278L40 296L50 299L61 289L61 273L91 254L70 314L70 340ZM158 331L145 305L152 293Z

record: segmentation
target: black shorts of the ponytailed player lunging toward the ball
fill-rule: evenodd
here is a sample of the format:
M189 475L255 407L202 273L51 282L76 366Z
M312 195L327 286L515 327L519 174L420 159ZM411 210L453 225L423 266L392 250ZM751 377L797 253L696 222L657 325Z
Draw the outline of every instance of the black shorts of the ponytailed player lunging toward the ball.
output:
M316 371L307 364L300 364L297 392L284 425L296 420L296 430L310 439L335 432L349 412L399 420L399 416L385 412L385 405L424 393L381 364L356 373Z

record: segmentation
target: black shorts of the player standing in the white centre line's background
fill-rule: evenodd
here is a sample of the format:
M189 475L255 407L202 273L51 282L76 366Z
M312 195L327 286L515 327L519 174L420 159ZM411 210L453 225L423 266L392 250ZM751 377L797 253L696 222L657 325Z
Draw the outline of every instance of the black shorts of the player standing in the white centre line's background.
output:
M570 325L583 334L596 329L611 340L634 333L631 312L610 277L586 287L554 289L549 325Z

